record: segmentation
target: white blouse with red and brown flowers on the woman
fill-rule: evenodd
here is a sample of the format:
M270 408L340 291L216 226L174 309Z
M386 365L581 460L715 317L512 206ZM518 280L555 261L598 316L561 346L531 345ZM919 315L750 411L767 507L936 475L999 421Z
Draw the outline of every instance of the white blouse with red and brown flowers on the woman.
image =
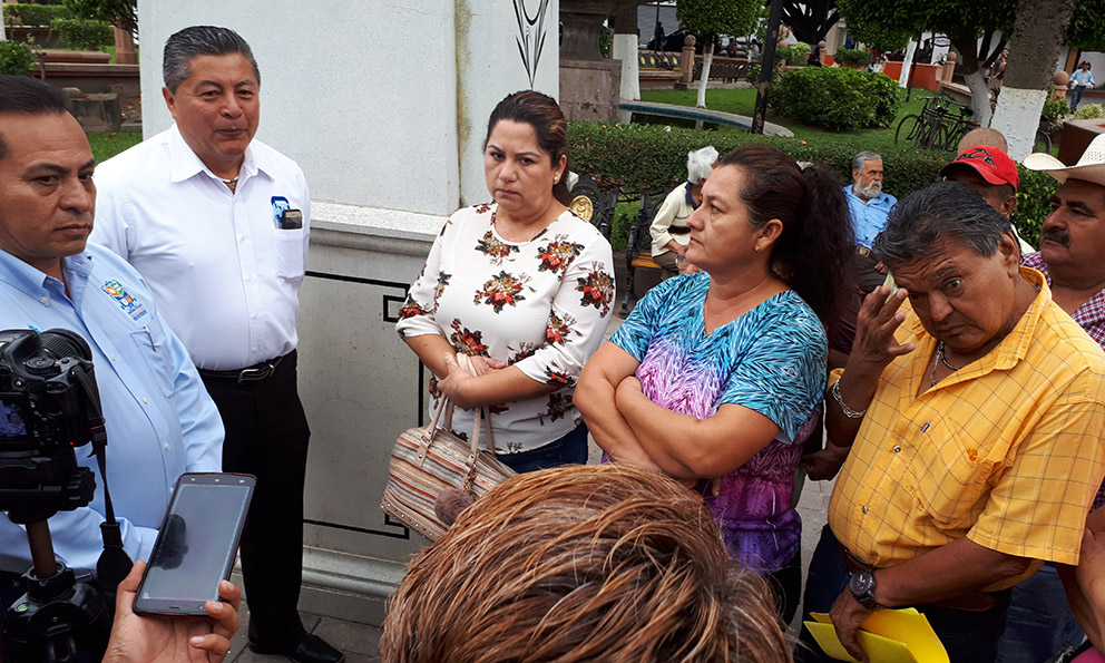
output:
M411 285L397 330L440 334L457 352L517 365L528 378L564 388L540 398L492 406L496 450L517 454L556 441L581 418L571 389L603 342L614 302L609 242L565 212L528 242L495 228L496 205L453 214ZM472 412L453 417L458 435Z

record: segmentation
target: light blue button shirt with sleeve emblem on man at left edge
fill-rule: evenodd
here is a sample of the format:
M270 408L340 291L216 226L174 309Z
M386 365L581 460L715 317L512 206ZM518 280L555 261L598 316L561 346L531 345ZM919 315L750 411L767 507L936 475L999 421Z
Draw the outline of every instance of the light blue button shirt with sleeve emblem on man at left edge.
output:
M111 501L133 559L149 557L177 478L219 471L223 422L176 335L162 324L154 298L135 270L89 244L63 259L66 283L0 251L0 329L77 332L92 350L107 426ZM104 481L91 446L77 449L96 474L85 508L50 518L55 553L75 569L92 569L102 550ZM0 514L0 568L30 567L23 528Z

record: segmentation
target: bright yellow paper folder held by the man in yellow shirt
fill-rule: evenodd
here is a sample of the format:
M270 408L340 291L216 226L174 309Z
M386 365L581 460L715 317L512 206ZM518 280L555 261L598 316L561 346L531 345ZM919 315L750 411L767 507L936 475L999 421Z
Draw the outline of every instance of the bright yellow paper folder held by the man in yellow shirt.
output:
M833 659L852 661L837 637L829 615L813 613L805 622L821 649ZM872 613L857 632L855 640L868 659L879 663L949 663L940 638L928 618L913 608L883 610Z

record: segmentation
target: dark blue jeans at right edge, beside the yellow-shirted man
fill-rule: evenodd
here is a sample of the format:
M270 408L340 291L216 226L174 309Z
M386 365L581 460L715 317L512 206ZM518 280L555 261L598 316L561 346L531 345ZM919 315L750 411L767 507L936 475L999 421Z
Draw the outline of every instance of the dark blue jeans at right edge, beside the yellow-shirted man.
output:
M1063 645L1078 646L1085 633L1067 603L1059 572L1045 564L1013 588L1005 633L998 641L998 663L1047 661Z

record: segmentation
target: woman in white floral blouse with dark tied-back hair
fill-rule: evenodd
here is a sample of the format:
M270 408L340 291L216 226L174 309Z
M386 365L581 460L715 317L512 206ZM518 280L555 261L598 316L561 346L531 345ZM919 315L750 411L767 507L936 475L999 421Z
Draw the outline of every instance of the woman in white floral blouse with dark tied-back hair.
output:
M471 408L486 406L499 459L517 471L587 461L571 392L614 300L609 243L565 206L567 149L551 97L496 106L483 148L493 203L449 218L397 325L436 393L465 408L452 428L471 430Z

